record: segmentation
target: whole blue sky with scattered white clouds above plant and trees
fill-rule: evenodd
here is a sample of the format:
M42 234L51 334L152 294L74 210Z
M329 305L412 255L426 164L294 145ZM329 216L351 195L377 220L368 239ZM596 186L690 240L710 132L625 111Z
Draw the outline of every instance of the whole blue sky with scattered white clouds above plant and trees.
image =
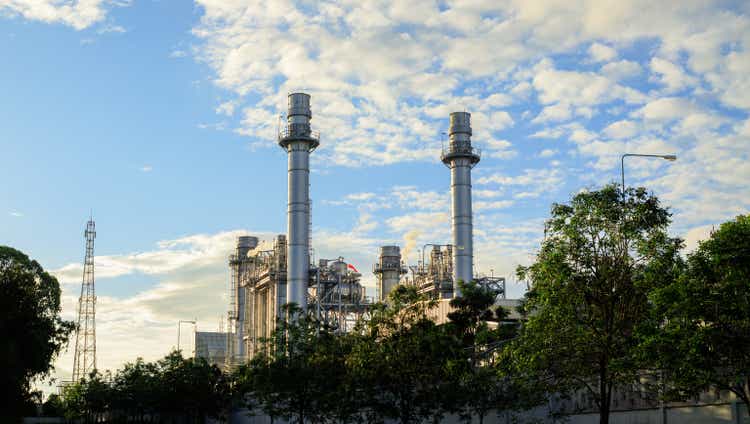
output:
M164 355L180 319L216 330L236 237L285 231L291 91L322 134L316 255L367 284L379 245L450 239L451 111L482 150L483 273L510 278L550 204L619 181L626 152L678 156L628 159L627 183L690 245L750 209L747 2L0 0L0 57L0 243L55 272L72 319L93 211L104 369Z

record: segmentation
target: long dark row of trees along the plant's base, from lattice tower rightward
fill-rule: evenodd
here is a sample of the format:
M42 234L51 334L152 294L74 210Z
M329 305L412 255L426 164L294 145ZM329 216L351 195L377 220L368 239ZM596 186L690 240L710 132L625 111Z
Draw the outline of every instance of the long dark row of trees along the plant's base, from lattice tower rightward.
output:
M406 286L348 334L287 305L288 318L231 375L175 351L154 363L139 359L114 375L92 373L61 397L51 396L43 409L75 422L198 423L225 420L243 407L298 423L485 416L513 395L494 378L493 349L515 337L517 327L501 325L506 312L494 306L498 291L461 287L448 324L435 324L427 315L434 301Z

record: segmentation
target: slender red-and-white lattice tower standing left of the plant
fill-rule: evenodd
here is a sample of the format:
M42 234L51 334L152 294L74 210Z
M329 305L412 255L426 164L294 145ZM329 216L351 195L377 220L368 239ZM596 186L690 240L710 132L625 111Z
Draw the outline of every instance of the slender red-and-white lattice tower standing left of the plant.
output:
M78 382L96 369L96 294L94 292L94 219L86 223L86 259L83 262L81 297L78 298L76 352L73 358L73 381Z

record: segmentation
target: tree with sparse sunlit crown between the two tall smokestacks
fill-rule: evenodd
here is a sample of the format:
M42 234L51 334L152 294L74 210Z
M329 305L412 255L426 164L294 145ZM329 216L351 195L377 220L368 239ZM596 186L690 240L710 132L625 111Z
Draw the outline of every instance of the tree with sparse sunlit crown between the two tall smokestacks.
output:
M347 366L358 382L363 410L374 419L411 423L456 409L451 377L461 346L427 316L434 301L415 287L397 286L387 304L360 323Z

